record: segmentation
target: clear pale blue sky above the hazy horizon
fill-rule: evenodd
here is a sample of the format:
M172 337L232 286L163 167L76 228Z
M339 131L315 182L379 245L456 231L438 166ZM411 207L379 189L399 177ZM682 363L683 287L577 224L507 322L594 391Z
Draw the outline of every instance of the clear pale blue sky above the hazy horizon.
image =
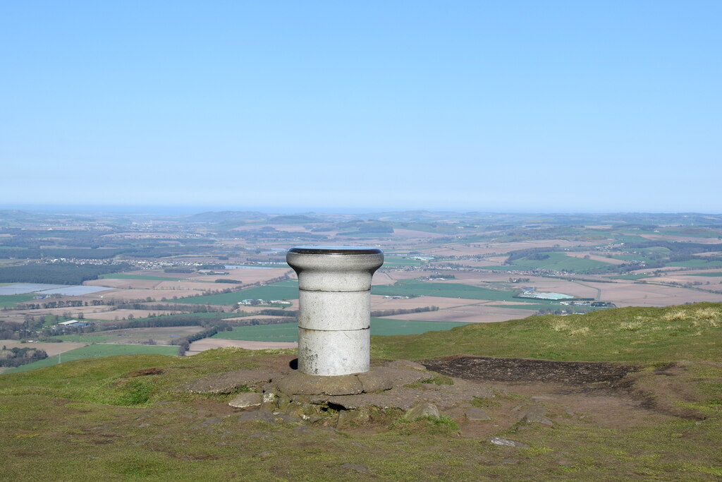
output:
M0 5L0 208L722 212L720 1Z

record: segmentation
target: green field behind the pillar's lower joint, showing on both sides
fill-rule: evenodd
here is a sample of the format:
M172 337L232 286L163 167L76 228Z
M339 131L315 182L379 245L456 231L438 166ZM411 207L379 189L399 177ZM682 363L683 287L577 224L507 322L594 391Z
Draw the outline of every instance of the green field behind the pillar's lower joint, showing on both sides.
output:
M464 326L466 323L456 322L417 322L404 319L371 319L371 335L418 335L428 331L451 330ZM212 338L223 340L251 341L298 341L298 325L296 323L258 324L251 327L235 327L232 332L218 332Z

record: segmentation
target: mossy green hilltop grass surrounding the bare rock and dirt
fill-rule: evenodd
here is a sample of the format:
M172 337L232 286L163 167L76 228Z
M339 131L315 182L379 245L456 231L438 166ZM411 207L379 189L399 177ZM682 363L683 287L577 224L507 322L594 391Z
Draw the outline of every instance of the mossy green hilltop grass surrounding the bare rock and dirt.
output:
M499 447L461 434L454 423L428 420L344 430L242 422L226 404L230 395L177 391L201 376L263 368L291 352L224 348L71 361L0 376L0 480L719 480L721 348L722 304L373 339L374 358L464 353L633 365L627 392L665 417L605 426L560 413L554 426L495 429L492 415L493 434L529 448ZM487 408L495 414L524 400L498 392Z

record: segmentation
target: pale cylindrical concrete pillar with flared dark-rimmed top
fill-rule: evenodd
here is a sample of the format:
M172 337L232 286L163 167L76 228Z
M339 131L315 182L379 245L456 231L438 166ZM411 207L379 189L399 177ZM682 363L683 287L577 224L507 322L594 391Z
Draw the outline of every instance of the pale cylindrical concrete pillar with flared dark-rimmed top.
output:
M371 277L380 249L297 246L286 256L298 275L298 369L334 376L369 370Z

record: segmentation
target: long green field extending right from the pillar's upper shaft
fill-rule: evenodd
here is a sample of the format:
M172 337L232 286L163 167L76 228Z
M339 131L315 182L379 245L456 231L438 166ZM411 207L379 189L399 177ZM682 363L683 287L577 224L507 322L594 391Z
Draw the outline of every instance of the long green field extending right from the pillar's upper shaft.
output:
M442 296L471 300L518 301L517 291L500 291L461 283L427 283L419 280L400 281L398 285L378 285L371 294L384 296Z

